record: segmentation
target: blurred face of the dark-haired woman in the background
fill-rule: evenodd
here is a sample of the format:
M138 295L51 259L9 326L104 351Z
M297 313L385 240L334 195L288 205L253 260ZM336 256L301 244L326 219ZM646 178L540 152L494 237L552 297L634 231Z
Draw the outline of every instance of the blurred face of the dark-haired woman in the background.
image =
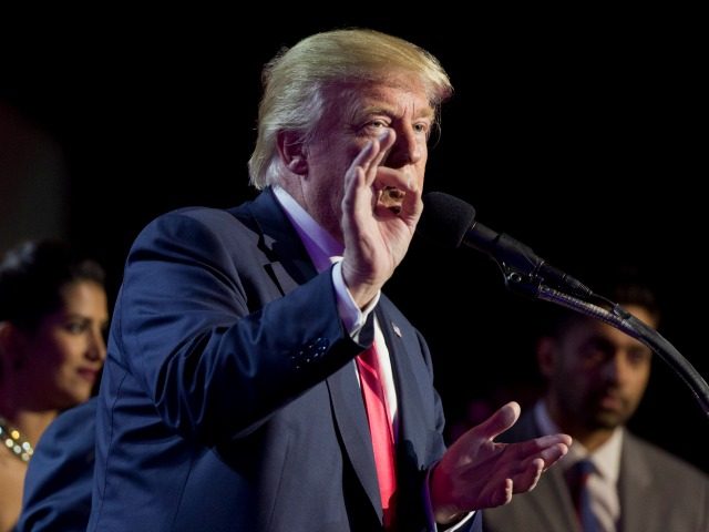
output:
M91 396L106 356L106 293L97 283L78 280L61 291L64 306L44 317L27 338L23 379L33 402L63 409Z

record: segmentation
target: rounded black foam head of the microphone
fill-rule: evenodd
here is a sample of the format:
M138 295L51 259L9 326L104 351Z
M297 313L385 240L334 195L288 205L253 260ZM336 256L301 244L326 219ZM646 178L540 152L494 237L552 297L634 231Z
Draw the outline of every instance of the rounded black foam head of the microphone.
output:
M475 223L475 208L443 192L423 195L423 214L417 232L444 247L460 247L467 229Z

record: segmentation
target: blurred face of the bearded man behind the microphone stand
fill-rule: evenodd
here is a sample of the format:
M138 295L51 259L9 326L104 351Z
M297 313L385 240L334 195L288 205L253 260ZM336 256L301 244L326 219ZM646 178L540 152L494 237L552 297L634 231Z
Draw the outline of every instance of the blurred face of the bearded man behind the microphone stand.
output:
M648 311L628 305L655 327ZM637 409L650 376L651 351L599 320L574 319L558 338L540 344L542 371L549 380L549 408L563 430L614 429Z

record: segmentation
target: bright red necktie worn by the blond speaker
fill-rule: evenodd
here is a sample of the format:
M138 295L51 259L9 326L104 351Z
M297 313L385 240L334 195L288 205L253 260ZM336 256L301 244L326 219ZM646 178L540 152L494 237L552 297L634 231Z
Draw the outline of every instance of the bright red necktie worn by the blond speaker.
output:
M394 437L391 420L387 412L387 399L380 378L379 357L374 345L372 344L372 347L362 351L356 360L362 387L362 397L367 408L369 431L372 436L381 507L384 511L384 529L389 529L393 522L394 492L397 491Z

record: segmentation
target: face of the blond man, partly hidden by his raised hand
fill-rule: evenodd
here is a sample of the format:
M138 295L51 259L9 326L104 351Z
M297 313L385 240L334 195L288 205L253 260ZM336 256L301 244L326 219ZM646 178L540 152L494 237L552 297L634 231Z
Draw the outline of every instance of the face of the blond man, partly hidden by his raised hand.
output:
M343 178L354 157L386 129L395 142L379 173L401 172L423 185L428 137L434 120L423 85L414 78L336 84L325 90L326 111L315 140L305 149L307 172L299 201L310 215L342 241Z

